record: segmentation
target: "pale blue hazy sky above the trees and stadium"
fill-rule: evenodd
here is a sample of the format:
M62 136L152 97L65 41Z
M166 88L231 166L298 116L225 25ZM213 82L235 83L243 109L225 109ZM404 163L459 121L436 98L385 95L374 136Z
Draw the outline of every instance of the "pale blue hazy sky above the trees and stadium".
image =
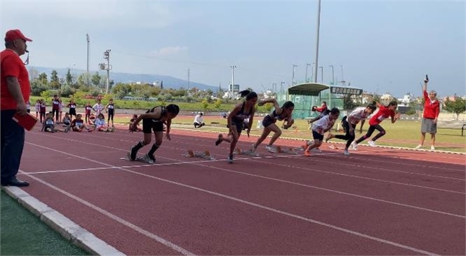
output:
M465 1L321 1L318 82L368 92L466 95ZM21 29L29 65L159 74L262 91L311 79L317 1L4 1L1 33ZM309 63L309 66L307 65ZM333 76L332 68L333 65ZM323 72L321 72L323 70ZM112 74L110 73L110 77ZM335 83L337 83L335 82ZM279 88L280 86L278 86Z

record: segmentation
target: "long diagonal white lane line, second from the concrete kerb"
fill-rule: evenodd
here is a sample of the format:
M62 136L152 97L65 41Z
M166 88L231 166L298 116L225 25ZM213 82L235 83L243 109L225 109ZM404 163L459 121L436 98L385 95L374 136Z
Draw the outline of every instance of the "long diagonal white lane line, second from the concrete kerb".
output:
M29 144L31 144L31 143L29 143ZM33 144L33 145L36 146L36 147L41 147L41 148L48 149L48 150L52 150L52 151L58 151L58 150L55 150L55 149L49 149L49 148L47 148L47 147L43 147L43 146L38 145L38 144ZM66 152L61 152L61 151L58 151L58 152L60 152L60 153L62 153L62 154L68 154L68 153L66 153ZM69 155L72 155L72 154L69 154ZM74 155L72 155L72 156L74 156ZM84 160L86 160L86 161L91 161L91 162L93 162L93 163L100 163L100 164L102 164L102 165L104 165L104 166L109 166L109 167L114 167L114 168L116 168L116 166L112 166L112 165L110 165L110 164L108 164L108 163L102 163L102 162L100 162L100 161L95 161L95 160L92 160L92 159L87 159L87 158L84 158L84 157L82 157L82 156L74 156L74 157L79 158L79 159L84 159ZM196 165L204 166L204 165L201 165L201 164L199 164L199 163L196 164ZM324 227L328 227L328 228L331 228L331 229L336 229L336 230L338 230L338 231L342 231L342 232L345 232L345 233L347 233L347 234L352 234L352 235L354 235L354 236L360 236L360 237L362 237L362 238L367 238L367 239L370 239L370 240L372 240L372 241L377 241L377 242L380 242L380 243L386 243L386 244L388 244L388 245L393 245L393 246L396 246L396 247L399 247L399 248L404 248L404 249L406 249L406 250L411 250L411 251L413 251L413 252L418 252L418 253L422 253L422 254L425 254L425 255L435 255L435 256L437 256L437 254L435 254L434 252L428 252L428 251L426 251L426 250L420 250L420 249L418 249L418 248L413 248L413 247L411 247L411 246L404 245L404 244L401 244L401 243L396 243L396 242L388 241L388 240L385 240L385 239L383 239L383 238L378 238L378 237L370 236L370 235L363 234L363 233L360 233L360 232L357 232L357 231L352 231L352 230L350 230L350 229L345 229L345 228L342 228L342 227L338 227L338 226L335 226L335 225L333 225L333 224L328 224L328 223L325 223L325 222L320 222L320 221L318 221L318 220L312 220L312 219L309 219L309 218L307 218L307 217L302 217L302 216L300 216L300 215L295 215L295 214L292 214L292 213L287 213L287 212L285 212L285 211L283 211L283 210L277 210L277 209L275 209L275 208L270 208L270 207L267 207L267 206L262 206L262 205L260 205L260 204L258 204L258 203L252 203L252 202L250 202L250 201L245 201L245 200L243 200L243 199L236 198L236 197L233 197L233 196L227 196L227 195L225 195L225 194L220 194L220 193L217 193L217 192L215 192L215 191L210 191L210 190L207 190L207 189L201 189L201 188L199 188L199 187L193 187L193 186L190 186L190 185L188 185L188 184L183 184L183 183L180 183L180 182L174 182L174 181L171 181L171 180L162 179L162 178L160 178L160 177L154 177L154 176L151 176L151 175L147 175L147 174L143 174L143 173L138 173L138 172L135 172L135 171L133 171L133 170L128 170L128 169L126 169L126 168L118 168L118 169L120 169L120 170L125 170L125 171L128 172L128 173L134 173L135 175L141 175L141 176L144 176L144 177L149 177L149 178L154 179L154 180L159 180L159 181L162 181L162 182L167 182L167 183L170 183L170 184L175 184L175 185L178 185L178 186L180 186L180 187L186 187L186 188L189 188L189 189L194 189L194 190L197 190L197 191L204 192L204 193L206 193L206 194L211 194L211 195L214 195L214 196L220 196L220 197L222 197L222 198L227 198L227 199L230 199L230 200L232 200L232 201L236 201L236 202L239 202L239 203L244 203L244 204L246 204L246 205L248 205L248 206L254 206L254 207L257 207L257 208L261 208L261 209L263 209L263 210L269 210L269 211L271 211L271 212L273 212L273 213L278 213L278 214L280 214L280 215L285 215L285 216L288 216L288 217L293 217L293 218L295 218L295 219L303 220L303 221L305 221L305 222L310 222L310 223L318 224L318 225L321 225L321 226L324 226ZM29 175L29 176L33 177L32 175ZM35 177L34 177L34 178L35 178ZM36 178L36 179L38 179L38 178ZM40 180L40 179L39 179L39 180ZM53 186L53 185L50 184L50 186ZM58 188L57 188L57 189L58 189ZM60 189L60 190L61 190L61 189ZM63 194L67 194L67 195L69 194L69 193L67 193L66 191L60 191L60 192L62 192ZM74 196L74 195L72 195L72 194L69 194L69 196L72 197L72 198L74 198L74 199L76 199L76 200L77 200L77 199L81 199L81 198L77 198L76 196ZM76 197L76 198L75 198L75 197ZM81 199L81 200L82 200L82 199ZM81 202L81 203L85 203L85 204L86 204L86 201L83 200L83 202ZM86 205L87 205L87 204L86 204ZM91 205L91 203L89 203L89 205ZM93 205L91 205L91 206L93 206ZM98 208L97 206L95 206L95 207ZM100 209L100 208L98 208L98 209ZM97 210L97 209L96 209L96 210ZM102 211L104 211L105 213L108 213L108 212L106 212L105 210L102 210ZM111 213L109 213L109 214L112 215ZM116 217L116 216L115 216L115 217ZM131 223L128 222L128 224L131 224ZM133 225L133 224L131 224L131 225ZM137 227L137 226L135 226L135 227ZM161 239L163 239L163 238L161 238ZM170 243L170 242L168 242L168 243ZM177 245L177 246L178 246L178 245ZM182 249L182 250L184 250L184 249Z

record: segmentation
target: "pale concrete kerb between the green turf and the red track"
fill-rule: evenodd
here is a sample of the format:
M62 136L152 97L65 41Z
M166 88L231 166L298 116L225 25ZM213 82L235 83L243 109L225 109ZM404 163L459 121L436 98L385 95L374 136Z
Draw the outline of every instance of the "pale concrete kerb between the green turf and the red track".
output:
M1 189L58 234L86 252L92 255L125 255L19 187L7 186Z

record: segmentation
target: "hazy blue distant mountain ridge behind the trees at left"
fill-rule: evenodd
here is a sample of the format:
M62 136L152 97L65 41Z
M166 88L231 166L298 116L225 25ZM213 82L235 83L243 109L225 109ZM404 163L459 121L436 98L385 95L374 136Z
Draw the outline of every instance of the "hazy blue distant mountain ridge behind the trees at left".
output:
M29 66L28 69L36 69L39 74L46 73L47 77L50 78L51 73L53 70L58 72L59 77L65 77L68 72L67 68L53 68L53 67L35 67ZM86 73L86 70L81 69L72 69L72 74L74 76L79 76L80 74ZM91 75L95 74L95 70L89 70ZM105 75L106 72L99 72L100 76ZM159 74L130 74L130 73L121 73L121 72L110 72L110 79L112 79L115 83L157 83L164 81L164 88L187 88L187 81L183 79L177 79L173 76L163 76ZM209 86L204 83L196 83L193 81L189 81L189 88L199 88L201 90L208 90L211 89L214 92L218 90L218 86Z

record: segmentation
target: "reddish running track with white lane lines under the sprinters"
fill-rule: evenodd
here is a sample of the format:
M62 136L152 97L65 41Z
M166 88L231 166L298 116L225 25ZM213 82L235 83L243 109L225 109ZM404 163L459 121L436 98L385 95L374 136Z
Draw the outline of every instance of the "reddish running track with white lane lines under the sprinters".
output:
M128 255L465 255L464 155L261 146L229 164L215 134L173 130L157 164L121 160L141 137L27 133L25 191Z

